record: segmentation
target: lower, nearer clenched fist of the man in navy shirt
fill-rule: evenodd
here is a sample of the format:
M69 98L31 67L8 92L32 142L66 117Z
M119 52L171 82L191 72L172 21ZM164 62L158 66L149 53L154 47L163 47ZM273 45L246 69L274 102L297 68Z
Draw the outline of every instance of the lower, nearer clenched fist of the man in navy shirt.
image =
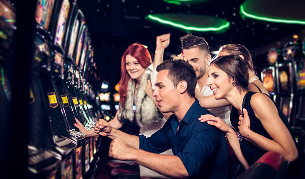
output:
M115 139L110 143L109 157L119 160L131 160L133 148L128 147L124 142Z

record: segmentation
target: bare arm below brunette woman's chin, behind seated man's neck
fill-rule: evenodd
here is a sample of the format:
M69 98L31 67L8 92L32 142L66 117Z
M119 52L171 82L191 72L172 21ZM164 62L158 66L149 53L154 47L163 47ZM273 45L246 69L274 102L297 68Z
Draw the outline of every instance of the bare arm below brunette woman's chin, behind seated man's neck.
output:
M205 108L231 105L226 99L215 99L214 95L204 96L198 89L195 89L195 97L199 100L200 105Z

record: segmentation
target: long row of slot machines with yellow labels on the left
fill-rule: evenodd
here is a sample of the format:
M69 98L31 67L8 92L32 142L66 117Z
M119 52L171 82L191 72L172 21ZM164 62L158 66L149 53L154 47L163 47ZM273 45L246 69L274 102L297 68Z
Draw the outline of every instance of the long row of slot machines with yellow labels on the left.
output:
M77 118L91 129L100 113L85 77L93 65L85 19L75 0L38 0L35 21L28 169L34 177L90 178L97 138L74 126Z

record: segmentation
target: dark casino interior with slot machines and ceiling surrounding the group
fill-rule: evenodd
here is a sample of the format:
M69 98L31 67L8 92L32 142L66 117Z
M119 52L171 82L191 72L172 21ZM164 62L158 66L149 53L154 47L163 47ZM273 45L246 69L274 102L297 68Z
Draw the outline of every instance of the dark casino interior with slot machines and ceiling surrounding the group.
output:
M304 157L304 9L304 0L0 0L1 178L140 179L134 163L108 156L111 139L74 123L111 121L124 51L139 42L153 57L165 33L164 60L181 53L187 33L204 37L212 56L224 44L246 46ZM132 123L120 130L139 134ZM289 179L290 163L266 154L239 176L230 166L229 178Z

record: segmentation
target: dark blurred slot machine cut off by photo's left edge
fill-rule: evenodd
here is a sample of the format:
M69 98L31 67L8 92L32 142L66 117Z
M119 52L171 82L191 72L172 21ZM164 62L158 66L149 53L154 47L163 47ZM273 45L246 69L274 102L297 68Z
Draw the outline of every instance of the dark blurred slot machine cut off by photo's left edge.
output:
M15 8L13 4L6 0L0 0L0 136L2 136L2 143L8 144L10 142L9 128L11 123L11 71L13 69L12 61L15 54L14 42L15 42ZM13 142L17 142L14 140ZM0 154L2 154L2 161L11 161L9 153L9 147L4 146L0 148ZM5 163L5 162L3 162ZM7 165L2 169L6 169ZM5 178L6 174L2 174Z

